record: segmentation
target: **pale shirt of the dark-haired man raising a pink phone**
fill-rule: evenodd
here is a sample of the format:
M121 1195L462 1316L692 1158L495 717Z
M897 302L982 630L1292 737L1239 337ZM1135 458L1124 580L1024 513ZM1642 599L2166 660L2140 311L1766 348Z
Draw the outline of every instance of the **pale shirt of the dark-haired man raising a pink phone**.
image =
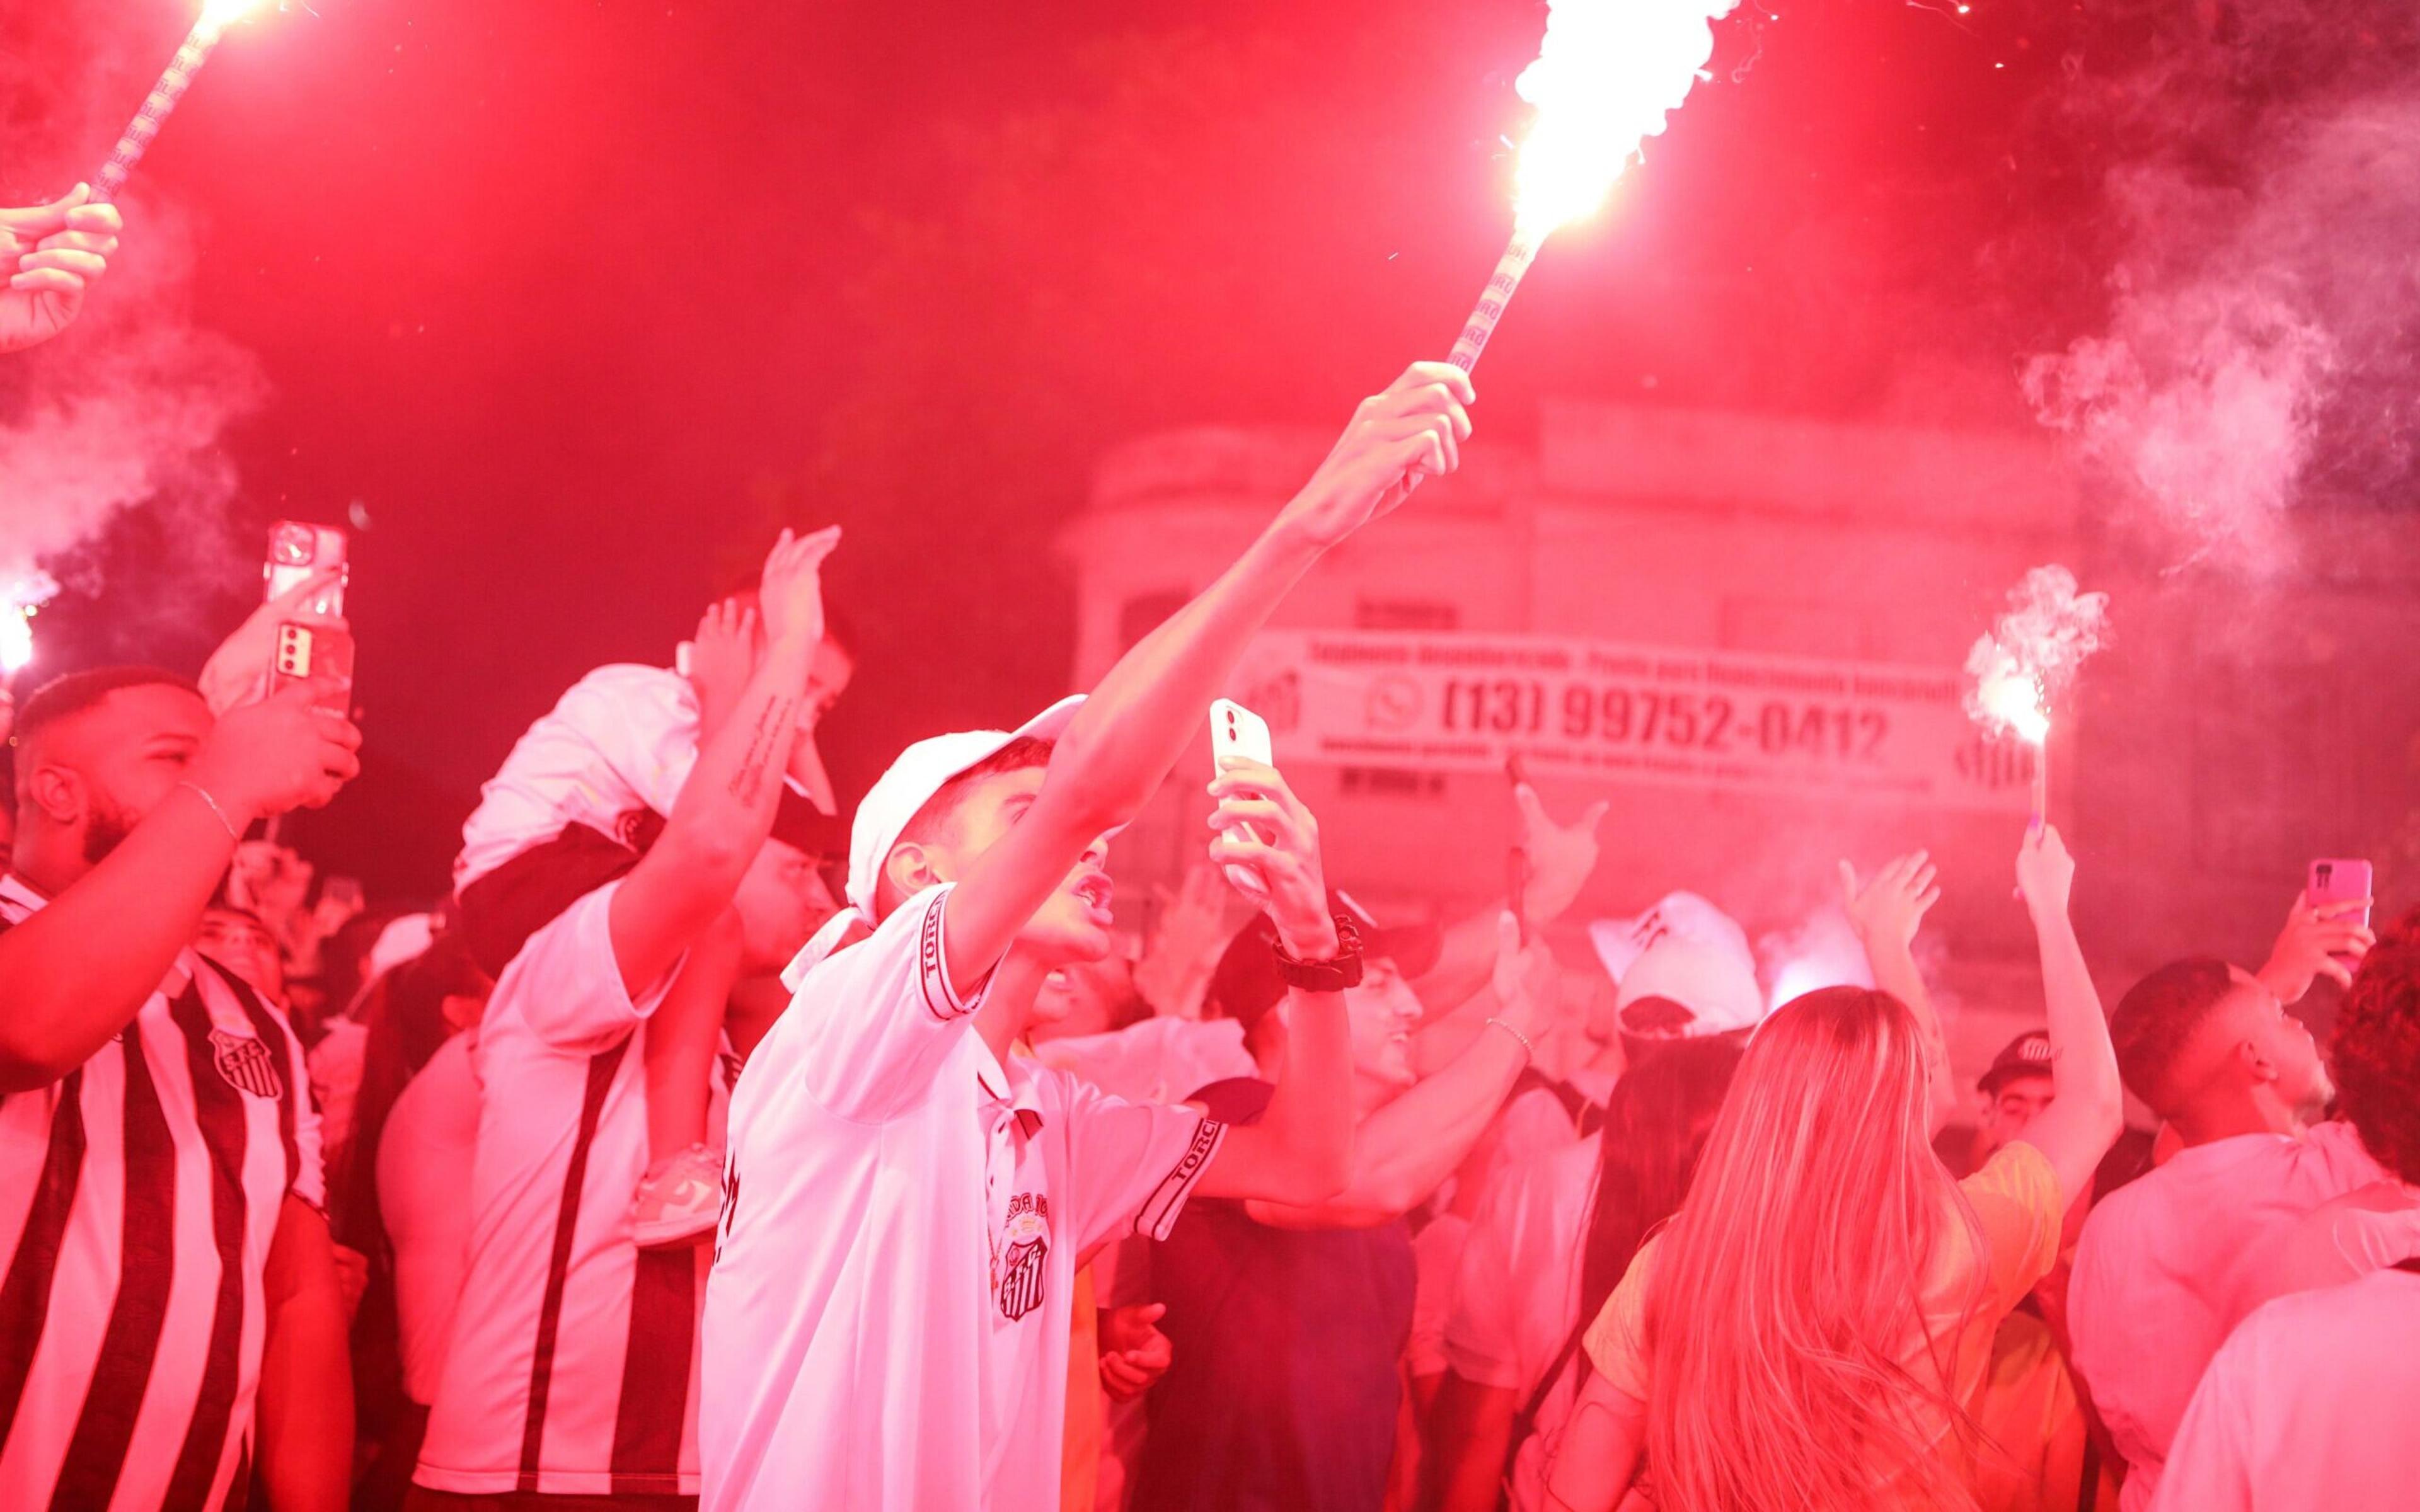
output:
M2159 1488L2176 1422L2226 1333L2282 1285L2280 1256L2323 1202L2384 1181L2350 1125L2183 1149L2103 1198L2067 1282L2074 1364L2127 1461L2125 1512Z

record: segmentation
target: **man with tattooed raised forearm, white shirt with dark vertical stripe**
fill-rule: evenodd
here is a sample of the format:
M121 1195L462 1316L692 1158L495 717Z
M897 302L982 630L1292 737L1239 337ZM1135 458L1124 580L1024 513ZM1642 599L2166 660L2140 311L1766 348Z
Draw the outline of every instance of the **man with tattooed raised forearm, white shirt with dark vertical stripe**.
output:
M484 1096L462 1294L407 1505L697 1495L704 1251L641 1248L646 1062L661 1011L721 1026L731 977L774 970L818 917L820 885L796 878L772 823L820 641L820 561L816 537L784 532L765 561L765 653L663 835L496 977L469 1043ZM697 1081L719 1103L726 1062Z

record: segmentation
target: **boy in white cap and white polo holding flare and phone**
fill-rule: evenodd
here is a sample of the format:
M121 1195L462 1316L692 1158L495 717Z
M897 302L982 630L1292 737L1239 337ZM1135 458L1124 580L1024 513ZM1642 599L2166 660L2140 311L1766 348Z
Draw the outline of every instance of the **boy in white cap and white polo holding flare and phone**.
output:
M1200 728L1319 556L1445 474L1469 377L1421 363L1355 411L1302 494L1087 702L912 745L866 793L849 910L731 1106L704 1326L704 1507L1058 1507L1082 1251L1164 1234L1186 1195L1316 1202L1350 1161L1316 827L1266 767L1212 784L1212 859L1258 871L1295 992L1268 1115L1225 1130L1012 1060L1043 977L1111 948L1106 837ZM1225 827L1249 823L1261 837Z

